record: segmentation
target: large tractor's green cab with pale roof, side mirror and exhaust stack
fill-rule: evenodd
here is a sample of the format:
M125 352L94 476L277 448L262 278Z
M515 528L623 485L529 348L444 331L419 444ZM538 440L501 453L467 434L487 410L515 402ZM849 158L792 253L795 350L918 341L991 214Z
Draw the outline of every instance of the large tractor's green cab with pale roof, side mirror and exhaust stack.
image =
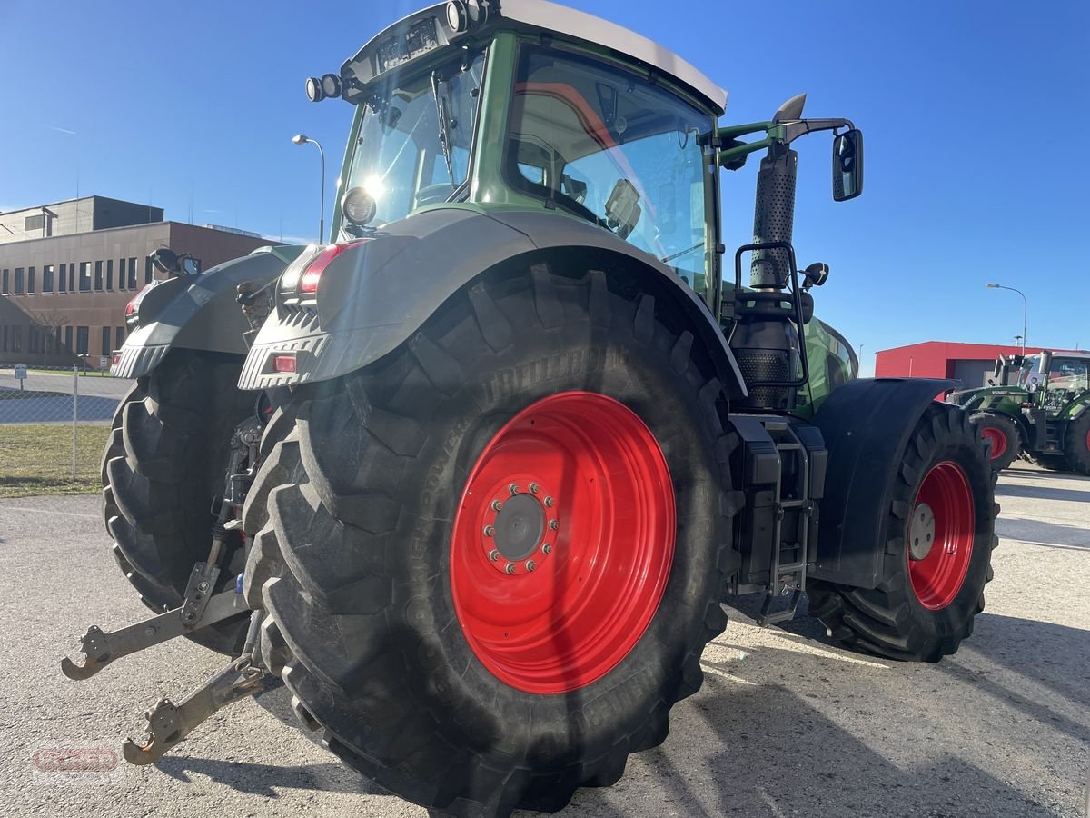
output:
M308 80L307 93L356 109L334 241L372 237L429 208L547 210L668 267L728 335L744 323L746 303L737 298L740 274L731 288L722 267L718 169L737 169L767 148L776 159L761 175L754 242L778 244L751 248L750 284L766 291L755 308L762 325L777 311L774 322L796 324L779 344L794 347L780 380L795 386L785 394L809 380L801 335L820 346L823 381L856 374L853 354L834 349L840 342L824 325L802 332L809 296L777 301L767 292L799 289L785 250L797 160L788 145L811 131L843 131L834 197L851 199L861 191L862 142L849 121L803 120L796 97L771 121L719 128L727 94L695 68L620 26L544 0L431 7L374 37L339 74ZM741 141L749 134L761 139ZM827 276L818 266L824 272L804 289ZM833 360L840 363L828 369Z

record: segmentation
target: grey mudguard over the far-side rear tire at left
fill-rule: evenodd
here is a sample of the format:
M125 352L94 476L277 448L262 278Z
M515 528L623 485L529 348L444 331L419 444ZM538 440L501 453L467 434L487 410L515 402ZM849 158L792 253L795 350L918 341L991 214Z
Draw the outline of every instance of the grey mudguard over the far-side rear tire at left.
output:
M118 377L146 375L175 347L245 354L242 334L250 325L235 303L235 287L271 281L302 250L263 248L199 276L169 278L145 290L135 308L138 326L110 372Z

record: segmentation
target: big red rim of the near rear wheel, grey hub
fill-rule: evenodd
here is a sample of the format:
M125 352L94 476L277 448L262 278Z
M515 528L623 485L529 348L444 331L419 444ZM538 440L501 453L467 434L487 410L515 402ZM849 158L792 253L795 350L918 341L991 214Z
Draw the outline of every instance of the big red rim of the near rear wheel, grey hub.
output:
M485 446L450 543L462 633L497 678L576 690L640 641L674 562L674 485L647 426L613 398L536 401Z

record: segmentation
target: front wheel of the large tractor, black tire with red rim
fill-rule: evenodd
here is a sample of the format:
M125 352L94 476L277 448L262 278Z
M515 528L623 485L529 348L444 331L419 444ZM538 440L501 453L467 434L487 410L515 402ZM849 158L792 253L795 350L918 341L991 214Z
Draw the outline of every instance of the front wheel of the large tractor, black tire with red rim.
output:
M984 608L995 476L965 413L941 404L924 412L893 468L877 587L812 580L810 612L852 648L935 662L957 650Z

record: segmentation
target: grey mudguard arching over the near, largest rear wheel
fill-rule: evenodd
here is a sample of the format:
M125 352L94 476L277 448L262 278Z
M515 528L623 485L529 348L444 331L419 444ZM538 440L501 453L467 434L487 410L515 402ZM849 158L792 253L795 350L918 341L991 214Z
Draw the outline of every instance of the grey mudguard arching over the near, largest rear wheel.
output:
M482 214L468 207L414 214L334 258L322 274L316 309L292 311L278 301L255 339L239 386L266 389L328 381L365 366L408 340L448 298L486 270L542 251L572 251L589 264L611 260L623 275L639 277L641 286L683 315L710 351L727 394L746 396L712 313L657 258L570 216L544 209ZM304 255L295 264L307 261ZM274 359L284 353L295 358L292 373L274 369Z

